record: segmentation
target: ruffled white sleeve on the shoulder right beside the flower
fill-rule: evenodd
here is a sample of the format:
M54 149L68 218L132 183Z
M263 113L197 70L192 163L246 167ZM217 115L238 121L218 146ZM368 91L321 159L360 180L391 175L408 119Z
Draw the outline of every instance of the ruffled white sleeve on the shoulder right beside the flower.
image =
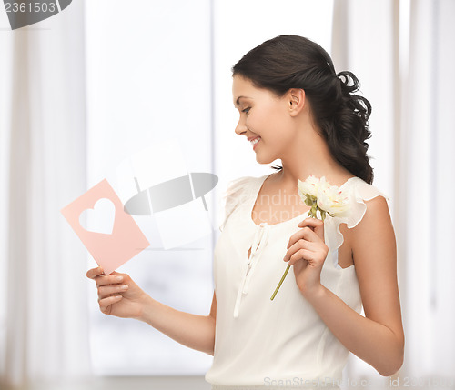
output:
M347 193L349 199L349 213L344 217L330 217L324 220L324 240L329 247L329 253L338 250L343 244L344 237L339 231L339 224L348 225L349 229L357 226L367 211L365 201L376 196L383 196L389 202L389 196L385 195L374 185L369 185L359 177L353 177L341 188ZM333 257L338 262L337 257Z

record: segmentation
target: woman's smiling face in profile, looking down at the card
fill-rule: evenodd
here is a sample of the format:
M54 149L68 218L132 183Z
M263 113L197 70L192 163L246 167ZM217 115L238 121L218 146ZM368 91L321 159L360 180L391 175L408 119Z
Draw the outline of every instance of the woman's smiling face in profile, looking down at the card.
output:
M269 164L281 158L297 136L295 121L289 115L288 95L277 97L268 89L255 87L242 75L233 76L232 94L240 113L236 133L246 140L260 137L252 145L258 163Z

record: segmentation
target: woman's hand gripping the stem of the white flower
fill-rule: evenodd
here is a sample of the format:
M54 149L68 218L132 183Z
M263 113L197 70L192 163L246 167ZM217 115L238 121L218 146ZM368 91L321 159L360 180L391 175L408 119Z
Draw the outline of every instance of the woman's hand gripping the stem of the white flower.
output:
M298 226L301 229L289 238L284 261L294 265L298 289L308 296L319 291L320 272L329 247L324 241L324 221L308 217Z

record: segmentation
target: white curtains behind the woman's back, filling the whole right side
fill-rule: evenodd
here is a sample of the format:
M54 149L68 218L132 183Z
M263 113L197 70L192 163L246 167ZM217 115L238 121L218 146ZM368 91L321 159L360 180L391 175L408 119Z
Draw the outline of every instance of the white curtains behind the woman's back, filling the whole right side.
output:
M373 105L373 184L392 198L406 348L396 376L405 386L444 387L455 373L454 16L451 0L334 6L334 63L359 76ZM380 379L352 355L347 375Z

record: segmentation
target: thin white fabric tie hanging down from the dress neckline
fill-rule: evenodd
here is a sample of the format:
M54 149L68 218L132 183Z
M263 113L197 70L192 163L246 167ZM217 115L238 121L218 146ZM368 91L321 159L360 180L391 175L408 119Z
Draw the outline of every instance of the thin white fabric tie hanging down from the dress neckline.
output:
M260 254L266 247L268 243L268 233L270 231L270 225L267 222L261 222L258 225L256 233L253 238L253 243L251 244L251 253L248 257L248 263L244 265L242 274L243 279L238 288L238 294L236 299L236 305L234 306L234 317L238 317L238 311L240 309L240 302L242 300L242 295L248 294L248 285L251 280L251 276L254 273L256 265L260 259Z

